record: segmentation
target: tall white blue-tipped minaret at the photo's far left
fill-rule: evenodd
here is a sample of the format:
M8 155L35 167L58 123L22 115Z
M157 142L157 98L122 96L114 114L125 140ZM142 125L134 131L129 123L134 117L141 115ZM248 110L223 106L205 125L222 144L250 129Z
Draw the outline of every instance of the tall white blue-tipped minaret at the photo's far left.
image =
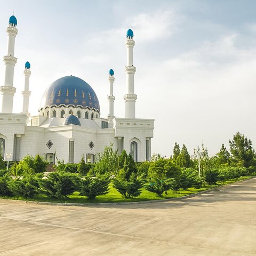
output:
M9 27L6 32L8 35L7 55L4 56L5 79L4 86L0 86L0 113L12 113L13 96L16 88L13 87L14 66L17 58L14 57L15 37L18 34L17 19L11 16L9 19Z

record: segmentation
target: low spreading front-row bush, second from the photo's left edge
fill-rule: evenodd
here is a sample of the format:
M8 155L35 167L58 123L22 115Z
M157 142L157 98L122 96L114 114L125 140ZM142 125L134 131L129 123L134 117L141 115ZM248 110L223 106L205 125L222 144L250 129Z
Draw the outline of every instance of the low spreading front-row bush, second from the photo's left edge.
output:
M38 182L42 177L42 174L27 174L22 179L10 179L7 181L8 188L14 195L33 198L38 193Z

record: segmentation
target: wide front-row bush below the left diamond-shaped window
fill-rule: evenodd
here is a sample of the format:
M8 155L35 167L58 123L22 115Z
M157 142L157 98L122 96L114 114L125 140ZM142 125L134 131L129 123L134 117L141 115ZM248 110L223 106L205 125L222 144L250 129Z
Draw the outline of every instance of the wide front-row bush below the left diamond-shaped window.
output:
M39 181L39 189L50 197L60 199L76 191L76 177L64 171L51 172L46 179Z

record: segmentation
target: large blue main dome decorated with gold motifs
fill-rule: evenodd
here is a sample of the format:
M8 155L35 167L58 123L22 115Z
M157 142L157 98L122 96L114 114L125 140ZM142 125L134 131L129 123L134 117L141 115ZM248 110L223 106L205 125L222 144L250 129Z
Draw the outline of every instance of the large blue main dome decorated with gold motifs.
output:
M89 108L100 113L99 100L92 87L76 76L61 77L46 89L41 109L52 106Z

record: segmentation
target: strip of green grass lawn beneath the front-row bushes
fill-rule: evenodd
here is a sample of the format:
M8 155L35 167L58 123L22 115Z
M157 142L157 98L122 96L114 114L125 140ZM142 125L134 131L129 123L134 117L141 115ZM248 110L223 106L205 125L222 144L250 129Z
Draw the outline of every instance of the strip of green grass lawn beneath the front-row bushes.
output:
M226 185L229 183L233 183L239 180L245 180L252 178L252 176L244 176L240 177L237 179L232 179L232 180L227 180L223 182L218 182L217 185L206 185L203 186L202 188L189 188L188 190L183 190L180 189L177 191L177 193L174 193L174 191L169 190L167 195L163 194L163 197L157 196L155 193L151 193L147 191L146 189L142 189L142 193L140 196L137 198L124 198L122 197L121 194L118 193L118 191L113 188L113 186L110 184L109 186L109 193L103 196L97 196L95 200L89 200L87 199L86 196L79 196L78 192L73 193L67 198L63 199L55 199L55 198L50 198L45 195L39 194L36 195L34 198L29 199L29 201L38 201L38 202L61 202L61 203L117 203L117 202L139 202L139 201L149 201L149 200L159 200L159 199L167 199L167 198L175 198L175 197L181 197L181 196L186 196L190 194L195 194L199 191L204 191L210 188L218 187L221 185ZM5 199L16 199L16 200L27 200L22 197L7 197L7 196L2 196L0 198L5 198Z

